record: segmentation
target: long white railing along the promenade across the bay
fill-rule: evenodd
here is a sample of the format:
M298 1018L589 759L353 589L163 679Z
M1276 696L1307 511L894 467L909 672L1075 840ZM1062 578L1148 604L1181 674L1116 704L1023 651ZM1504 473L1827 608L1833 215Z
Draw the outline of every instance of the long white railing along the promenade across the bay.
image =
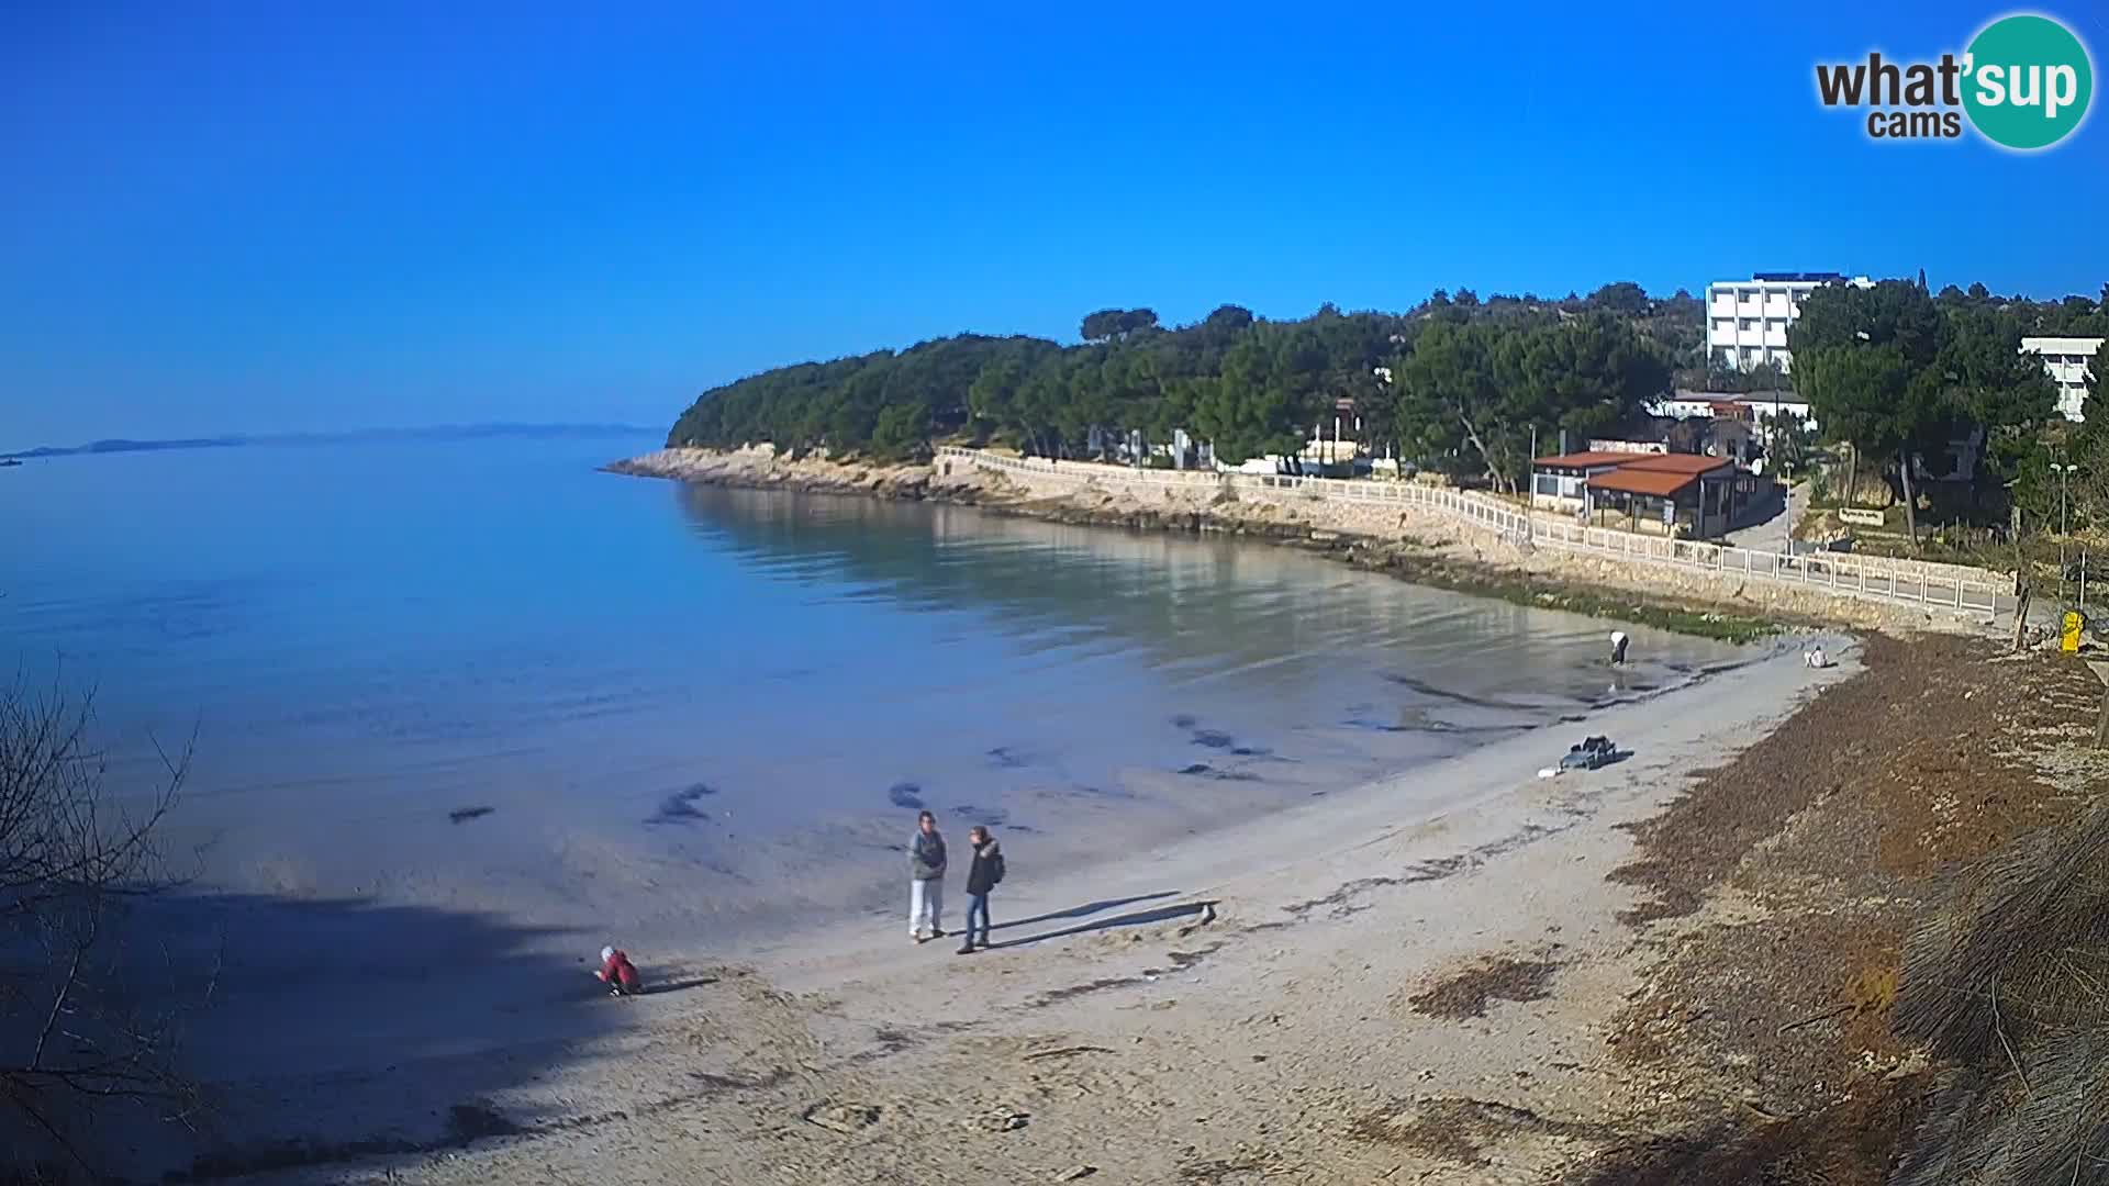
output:
M1609 528L1586 528L1563 517L1529 515L1485 494L1419 485L1411 481L1154 471L1097 462L1006 458L1002 454L962 449L955 445L941 447L939 456L964 460L985 471L1052 475L1071 479L1080 485L1086 481L1099 481L1111 485L1303 492L1329 502L1417 506L1459 519L1506 540L1521 540L1529 547L1554 547L1719 578L1797 585L1841 597L1904 601L1915 606L1947 608L1963 614L1997 614L2001 608L2012 606L2012 580L1991 572L1978 574L1978 570L1963 570L1959 566L1909 566L1909 561L1907 566L1898 566L1885 561L1883 557L1856 557L1850 553L1782 555L1763 549L1710 544L1704 540L1677 540L1668 536L1643 536Z

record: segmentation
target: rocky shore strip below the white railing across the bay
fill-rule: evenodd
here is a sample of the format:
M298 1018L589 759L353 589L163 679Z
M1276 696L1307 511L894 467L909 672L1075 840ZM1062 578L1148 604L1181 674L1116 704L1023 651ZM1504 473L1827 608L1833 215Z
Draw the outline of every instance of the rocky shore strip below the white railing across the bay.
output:
M1086 462L1078 462L1082 471ZM1653 572L1559 555L1510 555L1472 538L1455 523L1411 511L1272 504L1251 498L1147 502L1092 487L1044 492L1004 475L945 475L932 464L831 462L778 458L768 445L738 452L660 449L601 466L624 477L656 477L692 485L787 490L797 494L865 496L903 502L947 502L998 515L1133 532L1230 534L1352 563L1415 585L1493 597L1516 606L1567 610L1592 618L1637 623L1696 637L1748 642L1786 629L1953 629L1932 614L1820 597L1797 589L1677 589Z

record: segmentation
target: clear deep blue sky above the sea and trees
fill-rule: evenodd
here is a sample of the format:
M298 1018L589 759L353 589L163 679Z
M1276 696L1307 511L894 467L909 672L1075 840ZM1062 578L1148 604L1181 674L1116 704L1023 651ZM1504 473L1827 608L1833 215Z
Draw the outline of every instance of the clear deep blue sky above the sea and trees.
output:
M1816 103L2008 8L1651 8L11 4L0 445L658 426L1101 306L2109 281L2101 112L2018 156ZM2109 59L2098 0L2042 11Z

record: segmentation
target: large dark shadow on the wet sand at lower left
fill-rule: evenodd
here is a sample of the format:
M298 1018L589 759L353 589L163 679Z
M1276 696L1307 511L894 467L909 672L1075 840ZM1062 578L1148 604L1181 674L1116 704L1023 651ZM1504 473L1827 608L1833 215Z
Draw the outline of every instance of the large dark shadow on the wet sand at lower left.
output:
M534 1131L548 1118L494 1099L626 1015L591 975L595 937L483 914L183 895L133 922L167 952L156 988L202 1002L181 1051L209 1112L194 1133L103 1133L118 1137L99 1142L118 1163L103 1171L124 1180L215 1182Z

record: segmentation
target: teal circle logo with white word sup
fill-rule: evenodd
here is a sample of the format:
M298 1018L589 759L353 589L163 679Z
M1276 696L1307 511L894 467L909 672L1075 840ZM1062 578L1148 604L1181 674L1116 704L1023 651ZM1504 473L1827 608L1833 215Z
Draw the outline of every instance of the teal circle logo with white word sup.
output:
M2094 63L2088 46L2050 17L1999 17L1963 55L1963 110L1985 139L2035 150L2058 144L2088 116Z

